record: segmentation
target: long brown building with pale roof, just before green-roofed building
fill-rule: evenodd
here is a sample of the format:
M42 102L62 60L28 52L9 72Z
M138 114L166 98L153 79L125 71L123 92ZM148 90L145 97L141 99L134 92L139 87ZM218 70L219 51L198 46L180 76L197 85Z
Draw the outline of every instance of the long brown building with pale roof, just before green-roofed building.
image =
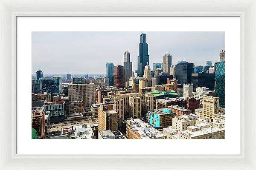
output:
M156 102L157 102L157 109L167 108L168 106L171 106L171 105L177 105L183 108L187 107L187 101L183 97L157 99Z

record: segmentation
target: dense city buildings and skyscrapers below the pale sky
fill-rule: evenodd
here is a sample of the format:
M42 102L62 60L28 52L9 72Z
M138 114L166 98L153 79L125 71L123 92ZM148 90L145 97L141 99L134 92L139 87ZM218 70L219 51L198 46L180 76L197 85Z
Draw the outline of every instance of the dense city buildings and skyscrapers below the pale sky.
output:
M204 65L180 57L174 63L172 51L163 51L152 68L146 36L130 42L137 54L120 54L122 65L96 65L102 74L37 68L32 139L225 139L224 47Z

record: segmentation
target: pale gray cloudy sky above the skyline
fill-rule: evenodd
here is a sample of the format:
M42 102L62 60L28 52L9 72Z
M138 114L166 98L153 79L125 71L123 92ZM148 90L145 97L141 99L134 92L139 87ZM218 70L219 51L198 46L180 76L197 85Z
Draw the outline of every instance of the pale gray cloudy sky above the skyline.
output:
M144 32L151 70L163 55L172 64L185 60L195 66L217 62L225 48L224 32ZM32 74L106 74L106 62L122 65L130 51L133 71L137 70L139 31L133 32L32 32Z

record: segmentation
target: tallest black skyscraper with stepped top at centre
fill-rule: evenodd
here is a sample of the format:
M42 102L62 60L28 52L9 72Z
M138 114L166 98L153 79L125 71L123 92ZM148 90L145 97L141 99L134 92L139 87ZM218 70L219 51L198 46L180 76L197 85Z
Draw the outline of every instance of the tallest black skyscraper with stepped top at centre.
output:
M139 56L138 56L138 77L143 77L144 68L149 65L148 43L146 34L140 34Z

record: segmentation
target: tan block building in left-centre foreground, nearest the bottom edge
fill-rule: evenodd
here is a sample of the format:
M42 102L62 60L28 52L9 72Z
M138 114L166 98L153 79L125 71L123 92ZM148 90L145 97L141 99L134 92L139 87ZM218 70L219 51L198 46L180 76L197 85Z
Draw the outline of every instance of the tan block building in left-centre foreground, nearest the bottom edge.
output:
M118 113L113 110L113 104L100 104L98 107L98 130L117 130Z

